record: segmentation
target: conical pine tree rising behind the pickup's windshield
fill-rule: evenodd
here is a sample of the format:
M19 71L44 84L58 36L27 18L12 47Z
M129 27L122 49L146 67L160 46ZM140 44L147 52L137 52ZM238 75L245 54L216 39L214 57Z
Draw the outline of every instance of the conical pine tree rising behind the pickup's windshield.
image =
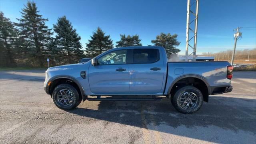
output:
M105 36L105 33L101 28L97 28L96 32L93 32L91 40L86 43L86 55L89 57L94 57L102 52L105 52L113 48L113 40L110 39L110 35Z

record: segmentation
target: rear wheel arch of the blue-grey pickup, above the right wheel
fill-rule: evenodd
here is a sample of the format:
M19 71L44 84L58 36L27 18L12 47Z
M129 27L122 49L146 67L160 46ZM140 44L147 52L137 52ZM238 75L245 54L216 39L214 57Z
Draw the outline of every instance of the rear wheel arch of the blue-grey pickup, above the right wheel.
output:
M201 91L204 91L202 92L203 95L204 95L204 101L205 102L208 102L208 99L209 99L209 94L211 92L211 89L210 89L210 84L207 82L207 80L205 78L203 78L202 76L198 76L198 75L194 75L194 74L188 74L188 75L184 75L184 76L180 76L178 78L176 78L172 84L170 85L170 87L168 88L168 91L167 91L167 96L169 96L170 94L174 93L175 92L175 89L174 89L174 86L177 84L177 82L179 82L180 80L183 80L183 79L186 79L186 78L193 78L193 79L196 79L196 80L200 80L200 82L202 84L204 84L204 86L207 88L207 91L204 89L201 88ZM200 89L200 88L198 88Z

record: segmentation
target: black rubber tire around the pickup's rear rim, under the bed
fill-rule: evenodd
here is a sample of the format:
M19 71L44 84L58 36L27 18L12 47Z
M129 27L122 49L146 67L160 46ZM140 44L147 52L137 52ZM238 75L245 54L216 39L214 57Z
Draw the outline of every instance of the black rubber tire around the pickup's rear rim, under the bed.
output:
M185 92L193 92L198 97L197 105L194 108L189 109L189 110L183 108L180 105L180 97ZM173 96L171 96L172 106L174 106L174 108L176 110L178 110L179 112L181 112L183 114L192 114L192 113L198 111L201 108L201 106L203 104L203 101L204 101L204 97L203 97L202 92L200 90L198 90L198 88L196 88L194 86L184 86L184 87L180 88L179 90L177 90Z

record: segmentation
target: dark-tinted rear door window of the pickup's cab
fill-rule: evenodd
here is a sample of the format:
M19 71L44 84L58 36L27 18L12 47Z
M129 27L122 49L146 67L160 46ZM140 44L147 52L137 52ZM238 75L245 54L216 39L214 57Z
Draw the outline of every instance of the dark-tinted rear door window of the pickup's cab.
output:
M154 63L158 60L159 60L158 49L145 48L145 49L133 50L134 64Z

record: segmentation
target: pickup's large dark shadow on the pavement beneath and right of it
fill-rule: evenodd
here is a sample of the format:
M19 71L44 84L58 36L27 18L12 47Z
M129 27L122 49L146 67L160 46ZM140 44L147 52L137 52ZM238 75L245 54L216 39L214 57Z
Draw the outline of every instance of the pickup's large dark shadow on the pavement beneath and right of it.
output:
M177 132L175 128L217 126L222 130L234 132L244 130L256 134L255 104L254 99L211 96L210 102L204 102L202 108L194 114L177 112L167 98L162 102L101 101L98 110L76 108L67 112L97 120L209 141L206 137L188 134L186 131Z

